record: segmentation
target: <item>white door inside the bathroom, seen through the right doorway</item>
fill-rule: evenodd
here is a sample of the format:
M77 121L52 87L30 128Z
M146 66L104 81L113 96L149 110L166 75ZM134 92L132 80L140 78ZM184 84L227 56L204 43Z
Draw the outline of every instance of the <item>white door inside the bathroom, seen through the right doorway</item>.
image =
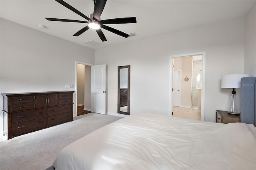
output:
M172 107L180 106L180 71L174 70L172 74Z

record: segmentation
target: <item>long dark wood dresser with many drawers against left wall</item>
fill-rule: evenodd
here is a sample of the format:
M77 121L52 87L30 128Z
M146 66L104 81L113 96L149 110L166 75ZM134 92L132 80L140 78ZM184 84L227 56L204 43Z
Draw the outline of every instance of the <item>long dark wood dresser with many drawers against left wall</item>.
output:
M73 121L74 91L3 93L4 134L20 136Z

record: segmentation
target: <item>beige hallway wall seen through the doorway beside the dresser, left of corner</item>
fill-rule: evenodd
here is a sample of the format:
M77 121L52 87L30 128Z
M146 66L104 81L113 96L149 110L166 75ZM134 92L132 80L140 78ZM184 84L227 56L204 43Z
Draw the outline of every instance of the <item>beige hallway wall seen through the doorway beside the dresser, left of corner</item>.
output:
M76 105L84 105L84 65L76 64Z

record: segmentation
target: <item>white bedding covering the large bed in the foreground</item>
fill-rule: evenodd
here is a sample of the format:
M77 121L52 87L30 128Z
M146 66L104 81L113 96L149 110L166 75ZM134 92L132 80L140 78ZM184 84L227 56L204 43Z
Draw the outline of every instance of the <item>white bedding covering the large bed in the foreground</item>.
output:
M150 113L120 119L66 146L56 170L255 170L256 127Z

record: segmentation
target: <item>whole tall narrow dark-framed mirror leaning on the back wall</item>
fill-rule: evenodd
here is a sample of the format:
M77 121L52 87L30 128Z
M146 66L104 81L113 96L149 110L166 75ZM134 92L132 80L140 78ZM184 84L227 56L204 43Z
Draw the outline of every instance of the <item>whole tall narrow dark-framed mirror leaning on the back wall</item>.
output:
M118 66L117 113L130 115L130 65Z

